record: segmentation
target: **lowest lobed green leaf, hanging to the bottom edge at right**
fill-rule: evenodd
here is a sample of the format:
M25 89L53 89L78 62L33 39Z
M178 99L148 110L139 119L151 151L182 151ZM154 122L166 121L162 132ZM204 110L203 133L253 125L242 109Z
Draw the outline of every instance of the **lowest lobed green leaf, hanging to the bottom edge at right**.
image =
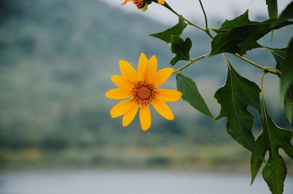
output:
M284 180L287 174L287 168L282 156L278 153L279 148L282 148L286 154L293 159L293 146L290 142L293 133L289 130L281 129L273 122L266 110L263 99L264 121L260 136L256 140L256 144L260 152L265 156L266 151L269 151L268 163L263 169L263 178L267 182L273 194L282 194ZM255 155L251 156L251 184L253 183L262 161Z

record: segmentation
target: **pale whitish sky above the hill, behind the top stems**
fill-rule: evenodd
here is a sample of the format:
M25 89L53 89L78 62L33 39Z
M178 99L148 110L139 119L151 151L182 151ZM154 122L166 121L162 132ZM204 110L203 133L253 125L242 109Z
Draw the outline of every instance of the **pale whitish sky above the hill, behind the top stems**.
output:
M116 6L124 11L142 14L145 17L157 20L167 25L176 24L178 17L169 11L167 8L152 3L148 6L147 11L142 12L137 10L136 6L132 2L128 2L126 5L121 6L124 0L99 0L104 1L111 6ZM278 1L278 13L284 10L284 8L292 0L279 0ZM197 0L167 0L166 1L171 8L177 13L183 15L184 18L190 20L193 23L204 24L204 16L200 8L199 1ZM235 17L243 14L249 9L249 19L255 20L258 15L268 17L268 10L265 0L202 0L202 4L207 14L208 22L210 20L231 20Z

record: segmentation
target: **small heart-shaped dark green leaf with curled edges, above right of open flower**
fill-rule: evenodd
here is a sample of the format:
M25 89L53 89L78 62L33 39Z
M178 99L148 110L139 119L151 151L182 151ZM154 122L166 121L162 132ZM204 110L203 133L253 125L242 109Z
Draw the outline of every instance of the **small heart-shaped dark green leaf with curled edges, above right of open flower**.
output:
M174 53L174 57L171 59L170 64L175 65L180 60L188 61L191 46L190 38L186 38L184 41L179 36L171 36L171 51Z

